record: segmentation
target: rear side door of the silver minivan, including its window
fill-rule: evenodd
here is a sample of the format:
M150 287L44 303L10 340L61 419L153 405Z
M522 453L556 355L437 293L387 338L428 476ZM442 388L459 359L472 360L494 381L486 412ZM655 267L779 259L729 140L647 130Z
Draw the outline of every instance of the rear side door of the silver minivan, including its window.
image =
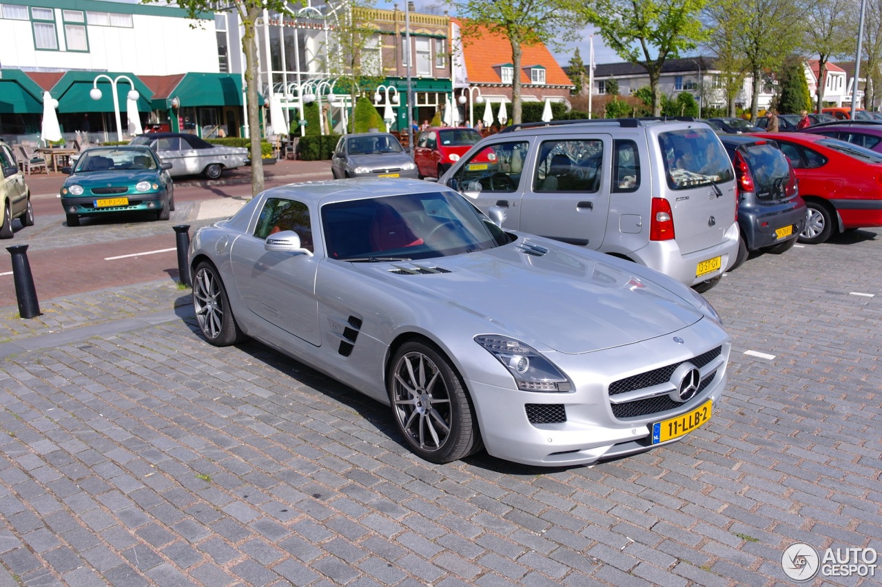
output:
M611 145L603 134L540 141L519 229L598 249L609 212Z

